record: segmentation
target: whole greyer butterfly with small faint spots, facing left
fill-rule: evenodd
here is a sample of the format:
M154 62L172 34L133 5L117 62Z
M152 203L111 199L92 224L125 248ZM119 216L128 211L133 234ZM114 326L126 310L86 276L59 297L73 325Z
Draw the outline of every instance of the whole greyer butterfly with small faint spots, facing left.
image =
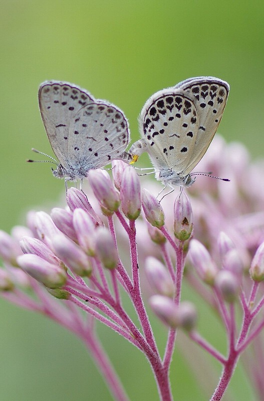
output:
M130 141L128 121L112 103L95 99L75 84L46 81L39 88L39 105L59 162L46 156L57 164L53 175L65 178L65 185L78 179L82 184L90 169L104 167L113 159L129 159L125 152Z

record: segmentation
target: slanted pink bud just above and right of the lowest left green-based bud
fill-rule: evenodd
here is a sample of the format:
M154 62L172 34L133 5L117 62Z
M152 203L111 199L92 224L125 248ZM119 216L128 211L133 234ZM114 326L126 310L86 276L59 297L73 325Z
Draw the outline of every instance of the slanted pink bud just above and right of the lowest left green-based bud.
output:
M54 252L61 261L79 276L90 276L92 268L85 252L62 234L53 238Z

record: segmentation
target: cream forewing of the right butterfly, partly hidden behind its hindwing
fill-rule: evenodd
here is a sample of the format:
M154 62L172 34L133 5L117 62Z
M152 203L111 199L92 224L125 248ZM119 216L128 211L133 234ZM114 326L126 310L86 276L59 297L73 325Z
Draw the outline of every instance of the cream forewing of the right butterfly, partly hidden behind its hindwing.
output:
M193 99L199 115L199 127L192 149L190 163L184 174L189 174L208 149L220 124L226 105L229 85L215 77L189 78L178 83L175 89L183 90Z

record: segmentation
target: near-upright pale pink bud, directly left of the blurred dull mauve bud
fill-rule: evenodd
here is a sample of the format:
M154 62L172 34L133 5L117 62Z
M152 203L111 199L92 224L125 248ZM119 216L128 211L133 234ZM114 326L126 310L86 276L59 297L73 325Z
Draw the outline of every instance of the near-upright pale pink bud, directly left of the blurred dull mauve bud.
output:
M89 256L95 255L95 225L89 213L83 209L75 209L73 212L73 226L75 228L78 243Z

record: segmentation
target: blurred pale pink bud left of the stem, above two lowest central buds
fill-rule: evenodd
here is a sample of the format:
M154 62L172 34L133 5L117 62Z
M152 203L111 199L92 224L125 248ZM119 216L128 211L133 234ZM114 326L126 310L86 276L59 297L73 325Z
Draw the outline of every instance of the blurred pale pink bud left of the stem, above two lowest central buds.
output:
M174 285L165 266L153 257L148 257L145 263L145 272L152 288L161 295L173 297Z

